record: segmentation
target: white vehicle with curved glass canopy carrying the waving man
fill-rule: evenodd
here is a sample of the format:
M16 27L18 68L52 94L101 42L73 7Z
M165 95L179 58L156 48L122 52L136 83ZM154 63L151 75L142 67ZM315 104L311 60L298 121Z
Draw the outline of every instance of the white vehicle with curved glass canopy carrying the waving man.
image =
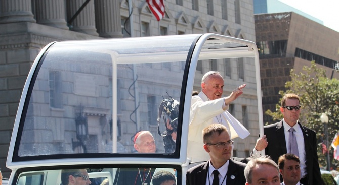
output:
M253 67L245 69L252 79L244 91L258 102L260 132L246 128L256 138L262 96L251 41L208 33L50 43L22 92L8 184L149 185L163 174L185 184L186 171L202 162L187 157L192 91L210 61L221 66L229 58Z

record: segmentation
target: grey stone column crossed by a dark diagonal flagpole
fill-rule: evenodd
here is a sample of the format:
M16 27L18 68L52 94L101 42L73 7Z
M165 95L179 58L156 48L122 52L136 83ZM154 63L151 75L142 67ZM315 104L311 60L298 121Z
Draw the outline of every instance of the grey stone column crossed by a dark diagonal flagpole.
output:
M70 29L73 31L86 33L89 35L98 36L97 29L95 28L95 16L94 16L94 2L96 0L89 1L80 14L70 23ZM69 21L86 0L73 0L67 1L67 20Z

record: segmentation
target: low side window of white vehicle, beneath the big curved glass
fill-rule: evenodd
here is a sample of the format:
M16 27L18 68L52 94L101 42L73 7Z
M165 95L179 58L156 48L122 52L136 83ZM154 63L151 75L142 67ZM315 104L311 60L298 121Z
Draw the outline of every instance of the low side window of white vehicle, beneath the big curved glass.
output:
M60 169L29 171L19 174L16 184L73 184L70 181L83 182L83 184L161 184L171 181L177 184L178 173L173 168L161 167L135 167L135 168L96 168L96 169Z

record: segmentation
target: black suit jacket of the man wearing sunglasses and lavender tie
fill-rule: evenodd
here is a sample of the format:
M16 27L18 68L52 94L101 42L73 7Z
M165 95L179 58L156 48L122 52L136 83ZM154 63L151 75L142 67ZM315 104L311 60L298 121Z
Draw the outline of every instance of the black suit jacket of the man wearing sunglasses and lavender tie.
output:
M303 126L302 128L305 143L307 176L310 185L321 185L320 167L317 154L317 138L314 131ZM287 153L286 140L282 120L275 124L264 127L268 146L265 148L265 154L271 156L271 159L278 164L279 156Z

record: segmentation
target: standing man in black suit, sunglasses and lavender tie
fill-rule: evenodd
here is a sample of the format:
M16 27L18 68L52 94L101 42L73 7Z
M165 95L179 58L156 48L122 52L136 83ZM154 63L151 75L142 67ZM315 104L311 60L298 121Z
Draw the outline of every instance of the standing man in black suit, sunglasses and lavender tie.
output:
M264 127L264 136L257 140L252 155L259 156L265 149L265 154L278 163L279 156L292 153L289 149L289 134L293 132L298 144L298 154L304 185L321 185L320 167L317 155L317 138L314 131L303 126L298 121L300 114L300 98L296 94L286 94L281 100L280 112L284 118L275 124ZM293 128L292 131L289 131Z

